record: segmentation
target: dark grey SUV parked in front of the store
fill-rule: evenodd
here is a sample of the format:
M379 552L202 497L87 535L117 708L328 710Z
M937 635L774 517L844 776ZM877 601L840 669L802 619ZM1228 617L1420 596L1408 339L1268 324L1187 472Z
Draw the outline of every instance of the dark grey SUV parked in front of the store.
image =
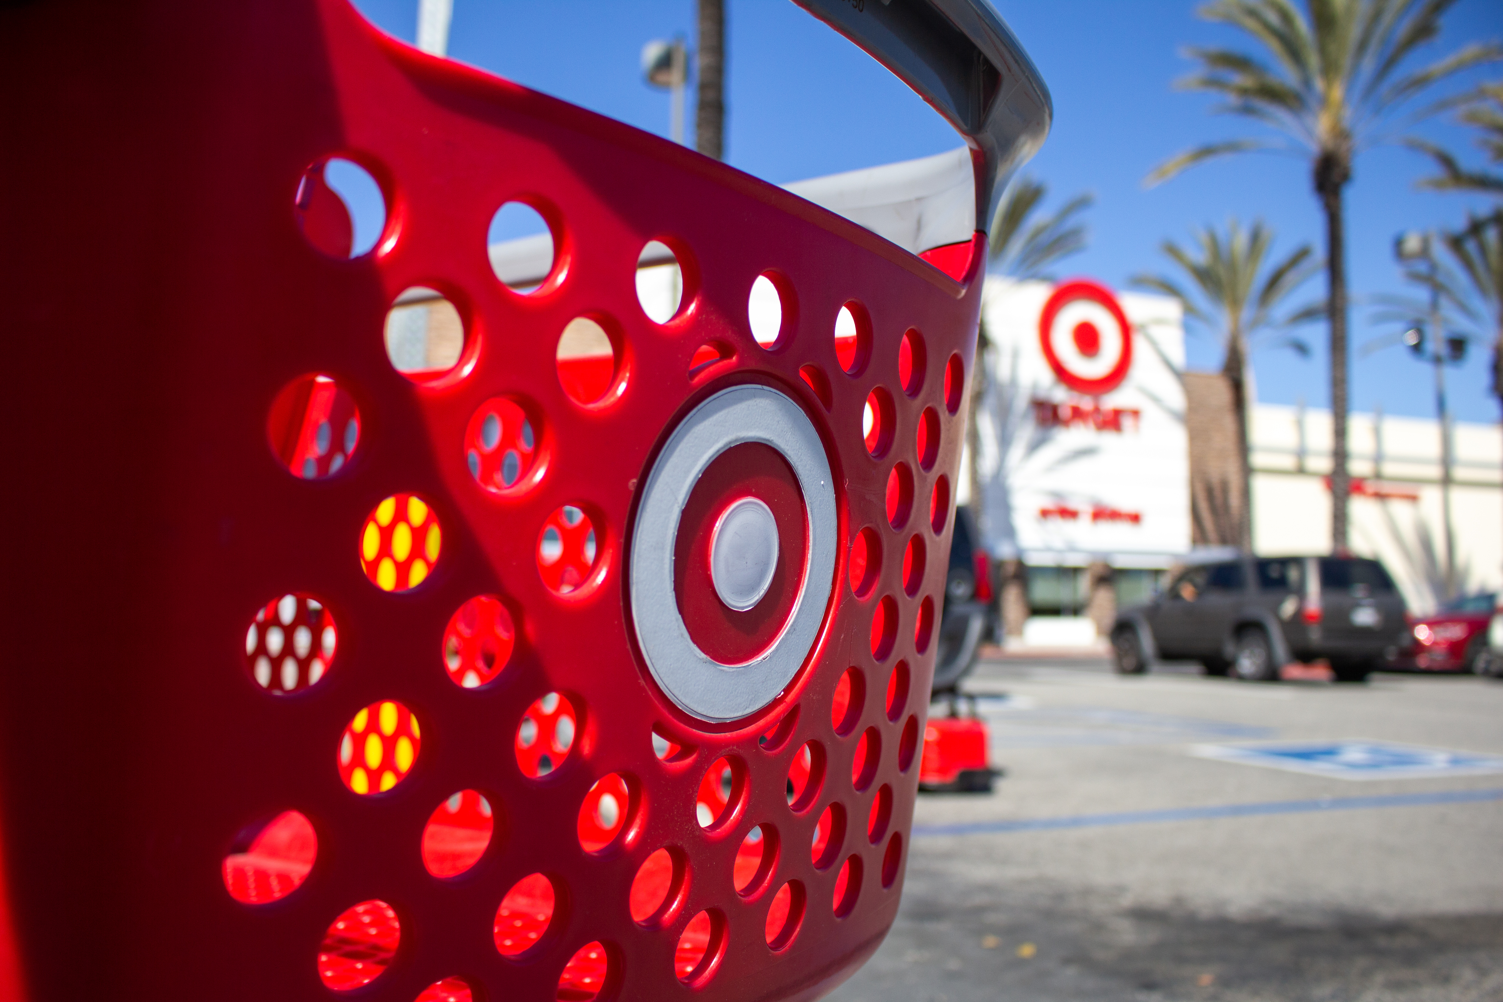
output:
M1117 670L1190 659L1208 675L1279 678L1290 661L1326 658L1362 682L1408 646L1404 596L1377 560L1240 557L1181 571L1145 605L1117 614Z

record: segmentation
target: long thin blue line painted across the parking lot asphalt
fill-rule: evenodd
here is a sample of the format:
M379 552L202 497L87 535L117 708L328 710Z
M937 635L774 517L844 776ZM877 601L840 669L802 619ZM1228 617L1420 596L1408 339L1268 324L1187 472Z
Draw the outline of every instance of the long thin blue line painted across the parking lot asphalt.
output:
M965 825L914 825L914 838L933 838L941 835L998 835L1007 832L1061 831L1069 828L1106 828L1111 825L1151 825L1156 822L1195 822L1211 817L1318 814L1321 811L1360 811L1377 807L1483 804L1488 801L1503 801L1503 787L1483 790L1437 790L1434 793L1392 793L1387 796L1324 796L1318 801L1217 804L1213 807L1174 807L1159 811L1114 811L1109 814L1031 817L1021 820L969 822Z

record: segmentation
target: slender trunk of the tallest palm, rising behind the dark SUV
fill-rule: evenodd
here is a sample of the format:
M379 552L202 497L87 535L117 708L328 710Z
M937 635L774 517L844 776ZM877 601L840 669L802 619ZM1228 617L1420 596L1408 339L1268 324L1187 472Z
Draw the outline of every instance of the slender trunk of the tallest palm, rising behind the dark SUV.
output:
M1326 210L1326 275L1330 321L1330 548L1347 553L1347 222L1342 189L1351 179L1351 164L1339 153L1315 161L1315 192Z

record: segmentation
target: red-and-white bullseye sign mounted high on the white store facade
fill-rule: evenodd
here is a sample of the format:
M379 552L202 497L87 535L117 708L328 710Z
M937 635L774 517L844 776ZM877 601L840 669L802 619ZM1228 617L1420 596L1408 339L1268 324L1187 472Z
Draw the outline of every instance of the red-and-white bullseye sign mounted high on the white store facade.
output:
M1111 290L1088 281L1058 285L1039 314L1043 358L1060 382L1100 397L1132 368L1132 326Z

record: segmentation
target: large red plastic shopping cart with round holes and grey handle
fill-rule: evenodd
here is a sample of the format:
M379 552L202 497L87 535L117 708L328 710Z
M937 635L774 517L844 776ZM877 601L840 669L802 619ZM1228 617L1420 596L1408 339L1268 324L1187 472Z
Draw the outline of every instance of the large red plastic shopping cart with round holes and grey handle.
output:
M0 11L0 996L807 999L876 949L975 224L1049 104L984 0L806 6L966 137L951 237L344 0Z

